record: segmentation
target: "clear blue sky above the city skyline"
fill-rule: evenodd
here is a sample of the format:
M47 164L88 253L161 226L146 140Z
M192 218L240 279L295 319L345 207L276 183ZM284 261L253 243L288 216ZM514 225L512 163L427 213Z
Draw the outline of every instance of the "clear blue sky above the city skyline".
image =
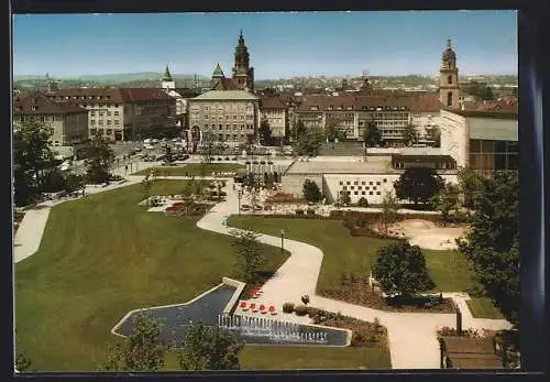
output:
M515 11L16 14L13 74L230 76L241 29L255 79L435 75L448 37L460 74L517 74Z

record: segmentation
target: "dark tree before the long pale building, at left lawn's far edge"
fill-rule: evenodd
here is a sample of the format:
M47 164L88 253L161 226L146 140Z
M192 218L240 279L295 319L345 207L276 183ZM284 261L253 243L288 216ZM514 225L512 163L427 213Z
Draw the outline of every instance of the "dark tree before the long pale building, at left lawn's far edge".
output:
M87 149L86 177L88 182L98 184L109 181L109 171L114 162L114 153L107 139L96 134Z

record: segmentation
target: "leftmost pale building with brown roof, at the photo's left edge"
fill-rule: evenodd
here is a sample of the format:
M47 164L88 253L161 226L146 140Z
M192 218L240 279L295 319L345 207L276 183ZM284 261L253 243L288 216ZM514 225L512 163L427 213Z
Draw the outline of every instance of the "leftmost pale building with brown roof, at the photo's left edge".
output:
M88 110L73 102L55 102L42 94L18 94L13 99L13 128L25 122L52 128L50 141L55 151L77 154L88 141Z

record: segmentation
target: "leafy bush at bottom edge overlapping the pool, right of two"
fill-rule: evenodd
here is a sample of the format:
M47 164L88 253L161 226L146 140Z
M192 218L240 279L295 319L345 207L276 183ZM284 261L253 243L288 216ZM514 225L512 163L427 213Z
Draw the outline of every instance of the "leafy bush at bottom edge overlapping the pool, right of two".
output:
M239 354L243 347L238 335L196 324L189 328L178 352L179 365L182 370L240 370Z

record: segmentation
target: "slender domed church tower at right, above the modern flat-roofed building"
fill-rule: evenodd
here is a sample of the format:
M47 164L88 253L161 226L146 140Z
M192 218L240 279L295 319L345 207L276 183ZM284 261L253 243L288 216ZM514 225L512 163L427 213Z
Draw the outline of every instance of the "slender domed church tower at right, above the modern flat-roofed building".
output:
M441 69L439 70L439 100L447 108L458 108L459 96L457 54L452 50L451 39L447 39L447 48L441 56Z

